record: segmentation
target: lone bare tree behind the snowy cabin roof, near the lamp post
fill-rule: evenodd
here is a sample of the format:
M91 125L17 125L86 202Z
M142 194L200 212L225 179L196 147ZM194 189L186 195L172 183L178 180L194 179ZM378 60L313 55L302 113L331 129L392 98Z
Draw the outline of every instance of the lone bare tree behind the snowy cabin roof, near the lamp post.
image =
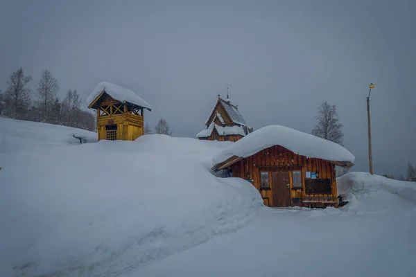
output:
M329 105L327 101L323 102L318 107L316 119L318 124L312 130L314 136L343 145L343 125L339 122L335 105Z

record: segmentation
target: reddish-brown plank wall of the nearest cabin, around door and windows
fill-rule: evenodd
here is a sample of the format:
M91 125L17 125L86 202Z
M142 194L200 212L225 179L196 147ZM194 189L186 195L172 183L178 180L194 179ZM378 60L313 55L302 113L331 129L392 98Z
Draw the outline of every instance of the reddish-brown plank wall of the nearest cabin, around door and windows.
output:
M272 146L254 154L250 157L241 159L237 163L230 166L232 169L233 177L240 177L247 179L247 172L250 172L250 179L253 179L252 184L260 190L261 171L275 171L275 170L302 170L302 190L296 190L293 188L293 177L290 171L291 179L291 197L315 197L319 201L320 197L336 197L336 176L335 166L332 163L323 161L322 159L306 158L304 156L293 153L286 148L279 145ZM306 194L304 187L304 179L306 171L319 172L319 179L331 179L332 180L332 193L331 194ZM272 178L269 176L270 187L272 188ZM261 196L268 198L270 206L272 206L272 190L261 190ZM305 206L305 205L304 205ZM316 205L315 205L316 206Z

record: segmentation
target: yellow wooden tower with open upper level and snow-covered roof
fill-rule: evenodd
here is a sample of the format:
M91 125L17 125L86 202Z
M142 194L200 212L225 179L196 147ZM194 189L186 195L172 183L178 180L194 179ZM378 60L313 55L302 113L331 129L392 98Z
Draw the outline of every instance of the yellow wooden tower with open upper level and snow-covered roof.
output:
M98 141L135 141L144 134L144 109L151 108L133 91L101 82L87 102L97 111Z

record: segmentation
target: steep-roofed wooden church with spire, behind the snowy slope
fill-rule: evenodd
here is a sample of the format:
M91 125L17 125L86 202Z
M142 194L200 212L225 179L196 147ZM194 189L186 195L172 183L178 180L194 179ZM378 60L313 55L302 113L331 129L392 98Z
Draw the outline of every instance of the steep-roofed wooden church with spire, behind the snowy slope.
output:
M216 105L205 122L205 129L196 137L208 141L238 141L252 131L239 108L229 98L223 99L218 94Z

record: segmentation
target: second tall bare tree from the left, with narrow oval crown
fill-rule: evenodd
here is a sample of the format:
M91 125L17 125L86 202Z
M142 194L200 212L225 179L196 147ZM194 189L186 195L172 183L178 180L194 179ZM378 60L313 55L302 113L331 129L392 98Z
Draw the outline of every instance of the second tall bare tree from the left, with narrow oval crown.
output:
M43 122L51 122L51 111L58 89L58 81L50 71L44 70L40 82L37 84L37 94Z

